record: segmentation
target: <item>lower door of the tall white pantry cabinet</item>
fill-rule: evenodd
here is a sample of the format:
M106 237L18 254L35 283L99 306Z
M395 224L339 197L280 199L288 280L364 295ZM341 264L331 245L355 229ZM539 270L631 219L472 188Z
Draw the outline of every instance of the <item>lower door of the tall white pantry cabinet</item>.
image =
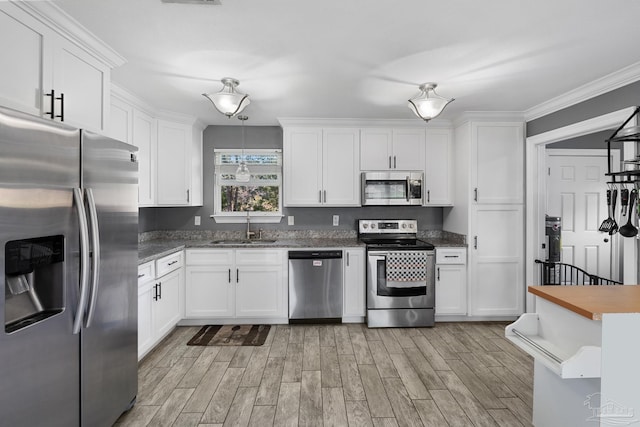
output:
M517 316L524 305L524 221L521 205L477 205L469 249L470 310L475 316Z

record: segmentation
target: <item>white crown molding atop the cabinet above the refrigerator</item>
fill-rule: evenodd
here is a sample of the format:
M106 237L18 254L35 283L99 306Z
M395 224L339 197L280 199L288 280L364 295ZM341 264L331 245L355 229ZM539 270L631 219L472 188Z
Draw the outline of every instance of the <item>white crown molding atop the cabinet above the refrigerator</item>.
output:
M120 67L127 62L122 55L52 2L16 1L13 4L109 67Z

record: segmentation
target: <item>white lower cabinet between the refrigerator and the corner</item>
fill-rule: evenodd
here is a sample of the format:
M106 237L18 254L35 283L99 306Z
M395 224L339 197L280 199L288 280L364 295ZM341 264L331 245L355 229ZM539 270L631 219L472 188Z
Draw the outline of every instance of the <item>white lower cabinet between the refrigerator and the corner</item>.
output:
M182 251L138 266L138 359L180 321L182 266Z

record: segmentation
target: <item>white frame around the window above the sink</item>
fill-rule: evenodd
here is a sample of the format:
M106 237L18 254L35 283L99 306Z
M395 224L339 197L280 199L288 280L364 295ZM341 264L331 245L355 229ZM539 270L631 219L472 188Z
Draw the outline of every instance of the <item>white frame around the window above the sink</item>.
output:
M251 155L260 155L260 154L272 154L278 153L280 157L279 162L279 171L278 174L278 207L279 210L277 212L264 212L264 211L244 211L244 212L224 212L222 211L222 183L220 182L220 175L218 173L218 164L217 164L217 154L218 153L227 153L227 154L235 154L241 155L242 149L236 148L216 148L214 151L213 158L213 218L217 223L246 223L247 216L250 218L252 223L279 223L282 221L284 217L284 213L282 211L282 202L283 202L283 167L282 167L282 149L280 148L255 148L255 149L246 149L244 150L245 156ZM251 170L251 164L248 164L249 170ZM256 165L257 166L257 165ZM244 183L238 183L238 186L242 186Z

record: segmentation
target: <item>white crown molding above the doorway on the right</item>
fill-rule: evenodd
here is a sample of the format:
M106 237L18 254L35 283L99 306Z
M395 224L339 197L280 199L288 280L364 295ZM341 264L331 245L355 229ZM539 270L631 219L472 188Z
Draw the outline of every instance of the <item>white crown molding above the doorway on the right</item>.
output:
M525 119L531 121L547 114L611 92L614 89L635 83L640 80L640 62L631 64L590 83L579 86L562 95L551 98L541 104L531 107L524 112Z

